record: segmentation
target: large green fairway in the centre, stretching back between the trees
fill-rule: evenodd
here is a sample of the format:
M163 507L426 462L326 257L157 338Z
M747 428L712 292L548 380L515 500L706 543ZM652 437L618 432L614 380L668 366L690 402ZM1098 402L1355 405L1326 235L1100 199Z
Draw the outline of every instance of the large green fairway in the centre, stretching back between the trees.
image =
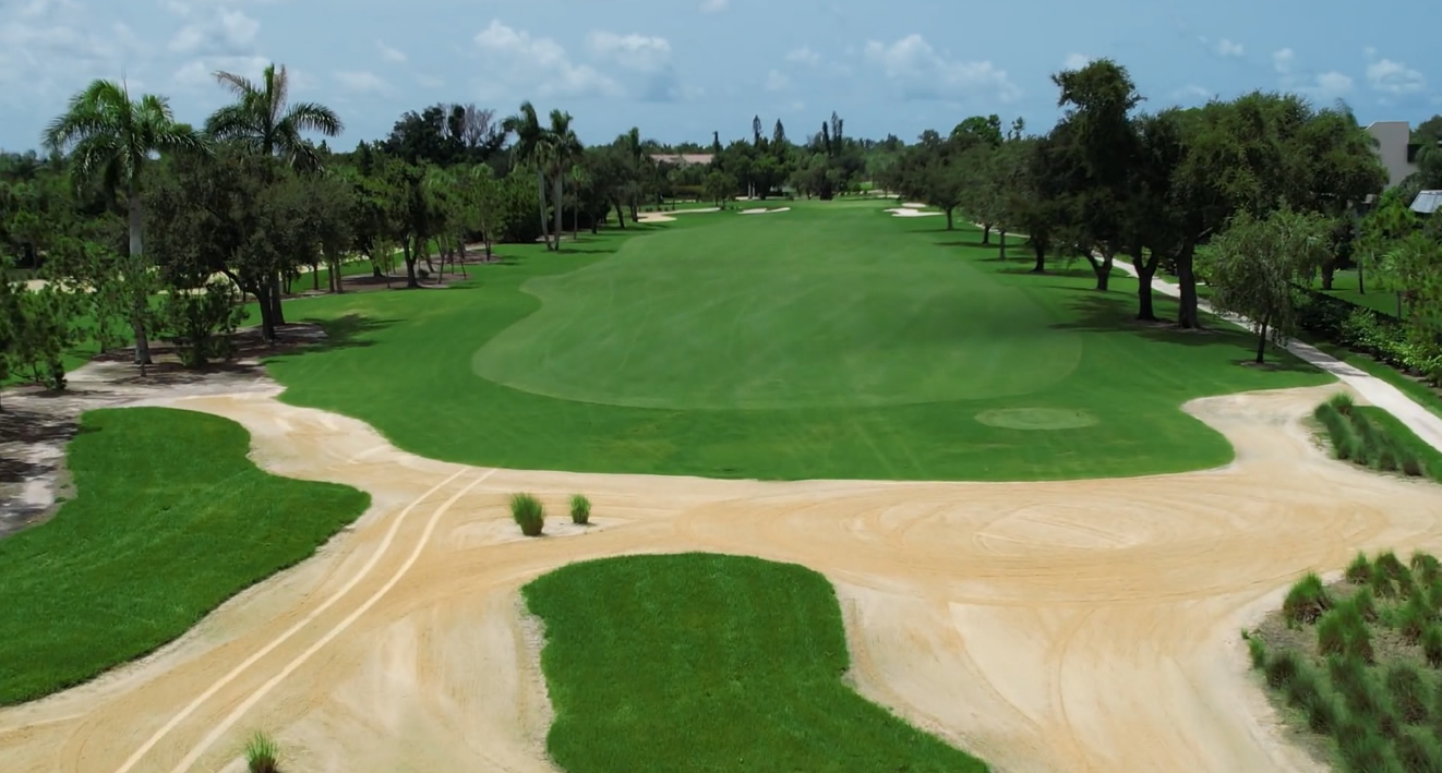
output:
M1324 384L1246 333L1142 326L1135 281L1027 273L888 202L786 202L503 247L443 291L296 303L327 350L277 358L284 399L487 466L712 477L1025 480L1231 459L1190 398ZM633 234L640 232L634 238ZM1174 314L1158 297L1158 314ZM508 386L505 384L512 386ZM1066 415L1054 427L998 411Z

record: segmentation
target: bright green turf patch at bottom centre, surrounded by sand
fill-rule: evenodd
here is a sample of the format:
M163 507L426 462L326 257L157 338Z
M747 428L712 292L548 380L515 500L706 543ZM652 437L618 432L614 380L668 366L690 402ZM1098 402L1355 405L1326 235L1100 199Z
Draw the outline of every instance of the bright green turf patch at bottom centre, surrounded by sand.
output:
M568 773L986 770L842 682L841 607L815 571L639 555L523 594L545 622L547 748Z

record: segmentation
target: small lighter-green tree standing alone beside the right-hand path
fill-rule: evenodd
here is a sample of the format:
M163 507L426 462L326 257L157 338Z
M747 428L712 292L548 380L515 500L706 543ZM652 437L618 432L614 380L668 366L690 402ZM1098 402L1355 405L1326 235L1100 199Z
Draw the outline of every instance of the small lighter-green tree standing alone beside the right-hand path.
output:
M1331 247L1332 224L1317 212L1242 212L1213 244L1207 275L1211 304L1246 316L1257 333L1256 362L1268 340L1296 333L1296 286L1311 280Z

